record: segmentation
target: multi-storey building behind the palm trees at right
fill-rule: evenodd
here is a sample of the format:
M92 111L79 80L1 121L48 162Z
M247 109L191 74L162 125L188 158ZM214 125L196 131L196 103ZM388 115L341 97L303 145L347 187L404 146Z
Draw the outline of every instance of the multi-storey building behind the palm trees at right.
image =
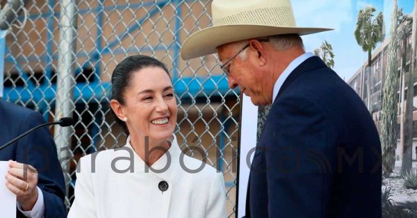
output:
M402 158L402 144L400 143L400 124L401 115L404 115L405 99L407 97L408 74L411 65L411 36L405 40L407 42L407 53L404 55L404 44L399 43L398 47L398 146L395 151L397 159ZM380 128L380 112L382 110L382 90L386 78L387 52L389 39L386 39L372 54L372 66L368 66L368 61L364 62L352 78L347 83L361 97L363 103L368 107L375 124ZM404 66L405 63L405 66ZM414 72L414 94L413 94L413 159L416 160L417 146L417 74ZM404 76L405 75L405 76ZM370 94L368 97L368 89ZM398 171L400 165L395 165L395 171Z

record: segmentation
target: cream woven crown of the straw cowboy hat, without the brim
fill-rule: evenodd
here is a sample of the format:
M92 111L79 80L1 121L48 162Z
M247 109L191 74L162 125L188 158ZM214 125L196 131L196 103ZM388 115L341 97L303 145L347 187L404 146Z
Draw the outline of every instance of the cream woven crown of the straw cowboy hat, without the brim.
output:
M296 26L289 0L214 0L211 12L213 26Z

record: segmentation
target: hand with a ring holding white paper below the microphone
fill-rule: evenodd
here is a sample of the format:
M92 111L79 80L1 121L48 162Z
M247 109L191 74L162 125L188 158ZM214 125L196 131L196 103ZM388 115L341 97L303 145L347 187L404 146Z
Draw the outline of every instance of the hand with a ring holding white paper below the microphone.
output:
M9 160L6 187L16 194L24 211L30 211L38 201L38 171L31 165Z

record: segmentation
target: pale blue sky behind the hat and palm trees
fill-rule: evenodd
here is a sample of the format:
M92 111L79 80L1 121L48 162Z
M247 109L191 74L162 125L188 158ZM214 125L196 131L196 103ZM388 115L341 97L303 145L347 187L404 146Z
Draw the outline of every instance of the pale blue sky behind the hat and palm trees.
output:
M327 40L334 51L334 70L345 81L368 60L368 54L362 51L354 38L357 15L361 8L374 6L377 12L383 12L386 39L389 35L393 0L292 0L295 22L301 27L334 28L334 31L303 36L306 51L313 51ZM398 8L410 14L414 9L414 0L398 0ZM377 46L377 49L379 45Z

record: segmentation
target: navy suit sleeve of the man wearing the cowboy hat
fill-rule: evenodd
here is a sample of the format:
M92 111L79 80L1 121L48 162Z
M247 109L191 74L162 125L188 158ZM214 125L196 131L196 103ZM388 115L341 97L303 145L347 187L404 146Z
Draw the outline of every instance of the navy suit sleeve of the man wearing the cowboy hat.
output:
M332 124L306 97L283 97L265 151L269 217L326 217L335 163Z

